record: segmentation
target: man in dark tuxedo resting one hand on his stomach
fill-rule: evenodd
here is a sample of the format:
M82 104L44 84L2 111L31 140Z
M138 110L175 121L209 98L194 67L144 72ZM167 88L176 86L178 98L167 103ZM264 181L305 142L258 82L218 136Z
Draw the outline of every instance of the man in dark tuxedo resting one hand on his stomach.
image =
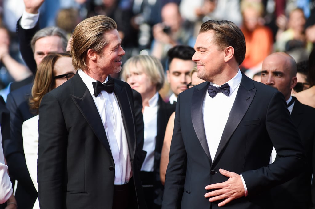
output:
M203 23L194 48L208 82L179 94L162 208L269 208L269 189L305 165L284 96L241 73L234 23ZM280 157L269 164L273 146Z

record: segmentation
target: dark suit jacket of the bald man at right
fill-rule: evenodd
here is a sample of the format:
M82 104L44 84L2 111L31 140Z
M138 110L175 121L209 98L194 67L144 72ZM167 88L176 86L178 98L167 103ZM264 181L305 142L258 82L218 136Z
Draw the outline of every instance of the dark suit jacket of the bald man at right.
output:
M296 126L306 153L307 166L302 173L288 182L272 188L273 208L308 209L312 208L312 200L315 203L315 194L311 193L311 179L315 169L313 158L315 141L315 109L301 104L295 97L295 103L291 118ZM313 206L314 208L315 206Z

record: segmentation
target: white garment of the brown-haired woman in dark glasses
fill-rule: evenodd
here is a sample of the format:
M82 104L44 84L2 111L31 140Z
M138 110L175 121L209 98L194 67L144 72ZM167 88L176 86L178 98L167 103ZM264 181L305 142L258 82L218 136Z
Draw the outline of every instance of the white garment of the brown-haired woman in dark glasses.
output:
M26 166L28 172L30 173L34 187L37 190L38 115L23 122L22 136ZM39 209L38 197L35 201L33 209Z

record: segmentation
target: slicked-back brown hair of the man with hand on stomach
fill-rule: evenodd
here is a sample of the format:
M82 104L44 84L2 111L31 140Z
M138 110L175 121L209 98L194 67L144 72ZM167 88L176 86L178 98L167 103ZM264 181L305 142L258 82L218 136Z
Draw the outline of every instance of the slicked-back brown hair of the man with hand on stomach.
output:
M228 46L234 48L234 57L238 64L242 64L245 53L246 43L244 34L241 29L228 20L208 20L201 25L199 33L213 31L215 44L220 50L224 50Z

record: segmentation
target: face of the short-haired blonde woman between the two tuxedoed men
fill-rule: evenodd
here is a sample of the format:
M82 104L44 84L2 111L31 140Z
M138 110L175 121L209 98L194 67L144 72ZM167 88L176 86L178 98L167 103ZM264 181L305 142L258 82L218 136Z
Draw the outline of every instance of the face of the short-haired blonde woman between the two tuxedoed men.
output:
M156 85L152 83L151 78L139 63L130 65L128 70L126 82L132 89L139 92L142 98L151 98L157 92Z

